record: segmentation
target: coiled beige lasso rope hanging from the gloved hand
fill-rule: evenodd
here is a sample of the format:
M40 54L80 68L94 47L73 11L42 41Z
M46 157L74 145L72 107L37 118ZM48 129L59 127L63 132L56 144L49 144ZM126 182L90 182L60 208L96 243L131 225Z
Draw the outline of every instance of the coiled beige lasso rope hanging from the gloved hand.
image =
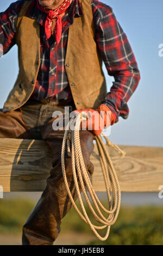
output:
M108 202L109 202L109 210L105 209L102 203L99 201L95 190L93 189L93 186L91 184L91 181L89 179L89 175L87 174L87 169L85 167L82 149L80 146L80 137L79 137L79 130L80 130L80 122L81 120L86 120L87 116L84 112L80 113L76 117L76 123L74 125L74 118L70 120L70 122L67 124L64 138L62 141L62 150L61 150L61 166L62 166L62 174L64 177L66 190L68 193L68 196L70 197L71 203L74 206L74 209L78 212L79 216L82 218L82 220L87 223L92 231L95 233L95 235L98 237L98 239L104 241L109 236L110 226L114 224L117 220L118 213L120 211L120 205L121 205L121 188L120 184L117 179L117 175L114 169L114 166L112 164L111 158L109 156L108 151L106 150L106 145L113 147L124 157L126 153L122 151L116 144L111 143L109 139L103 134L106 145L104 144L101 135L96 136L96 143L99 153L99 160L101 162L101 167L103 171L103 177L105 181L105 187L106 187L106 193L108 196ZM71 129L71 126L74 125L74 129ZM72 159L72 172L73 172L73 179L74 179L74 185L76 187L76 191L78 194L79 203L81 206L81 209L83 211L80 212L78 209L78 206L74 202L74 199L72 197L70 188L68 186L67 178L66 178L66 170L65 170L65 147L67 144L67 154L68 156L71 156ZM77 178L78 177L78 178ZM94 225L91 223L89 216L87 216L85 206L83 204L82 196L80 194L79 184L82 188L82 192L84 194L85 200L87 205L89 206L89 209L92 212L92 215L95 217L95 220L102 224L102 225ZM85 187L85 185L86 187ZM87 188L87 190L86 190ZM111 193L112 191L112 193ZM96 211L93 209L88 192L90 194L90 197L92 199L93 204L95 205ZM106 218L99 207L108 214L108 217ZM98 234L97 230L106 228L106 234L104 237Z

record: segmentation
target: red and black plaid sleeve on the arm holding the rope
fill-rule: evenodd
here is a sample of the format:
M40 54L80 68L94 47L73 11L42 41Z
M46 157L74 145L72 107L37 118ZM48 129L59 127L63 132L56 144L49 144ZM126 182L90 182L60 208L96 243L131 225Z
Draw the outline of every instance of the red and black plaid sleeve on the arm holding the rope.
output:
M112 8L97 0L91 2L96 43L108 74L115 79L102 103L112 111L116 123L119 116L128 117L127 102L139 84L140 72L127 36Z

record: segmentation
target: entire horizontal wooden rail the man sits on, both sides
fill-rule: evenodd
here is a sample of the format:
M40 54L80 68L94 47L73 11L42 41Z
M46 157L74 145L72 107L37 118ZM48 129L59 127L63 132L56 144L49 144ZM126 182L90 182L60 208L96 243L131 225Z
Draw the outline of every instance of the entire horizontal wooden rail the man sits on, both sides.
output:
M158 191L163 185L163 148L120 146L121 157L108 148L122 191ZM97 148L91 155L95 165L92 184L96 191L105 185ZM52 153L44 141L0 139L0 185L4 191L43 191L51 169Z

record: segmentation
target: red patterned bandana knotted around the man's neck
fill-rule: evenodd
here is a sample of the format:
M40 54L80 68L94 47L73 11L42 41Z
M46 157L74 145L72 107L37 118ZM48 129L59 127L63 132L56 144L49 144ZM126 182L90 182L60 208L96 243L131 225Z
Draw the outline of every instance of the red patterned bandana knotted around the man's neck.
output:
M59 16L62 13L65 13L66 9L70 6L72 0L65 0L57 9L55 10L47 10L45 9L40 3L39 0L37 0L37 7L43 11L43 13L47 14L46 21L45 21L45 34L46 34L46 40L48 40L51 37L52 34L52 23L53 19L56 19L56 26L55 26L55 40L57 41L57 45L59 45L59 42L61 40L61 34L62 34L62 19Z

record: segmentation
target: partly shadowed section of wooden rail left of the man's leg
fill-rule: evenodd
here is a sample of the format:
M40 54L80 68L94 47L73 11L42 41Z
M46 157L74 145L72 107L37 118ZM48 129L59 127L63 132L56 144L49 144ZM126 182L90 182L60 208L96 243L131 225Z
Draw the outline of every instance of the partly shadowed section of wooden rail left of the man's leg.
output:
M42 191L52 154L43 141L0 139L0 184L4 191Z

